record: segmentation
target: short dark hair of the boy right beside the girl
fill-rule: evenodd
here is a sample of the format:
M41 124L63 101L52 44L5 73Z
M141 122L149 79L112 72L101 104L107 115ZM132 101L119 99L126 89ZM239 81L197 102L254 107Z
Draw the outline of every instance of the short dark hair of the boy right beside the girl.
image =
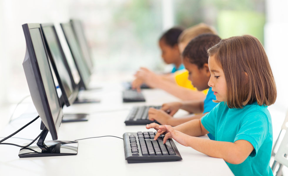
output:
M220 42L221 38L215 34L201 34L193 38L183 51L183 58L202 68L208 63L207 50Z

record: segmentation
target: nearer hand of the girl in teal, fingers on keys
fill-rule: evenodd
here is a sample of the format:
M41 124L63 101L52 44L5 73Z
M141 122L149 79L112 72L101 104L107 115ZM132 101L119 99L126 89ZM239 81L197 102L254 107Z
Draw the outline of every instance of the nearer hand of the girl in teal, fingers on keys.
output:
M181 133L180 131L175 130L170 125L161 125L158 128L159 128L159 130L157 131L157 134L155 135L156 139L163 133L163 131L165 131L166 134L165 134L165 137L163 139L163 143L166 143L168 138L173 138L178 143L180 143L186 147L188 146L187 139L190 136L188 136L187 134L184 134L184 133ZM159 135L158 135L158 133L159 133Z

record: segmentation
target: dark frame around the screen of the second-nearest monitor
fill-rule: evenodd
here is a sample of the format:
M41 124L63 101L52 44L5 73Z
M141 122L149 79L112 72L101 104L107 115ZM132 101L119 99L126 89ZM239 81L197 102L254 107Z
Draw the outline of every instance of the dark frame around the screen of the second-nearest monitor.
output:
M64 102L61 102L61 106L64 105L63 103L65 103L66 106L70 106L77 99L78 92L79 92L79 87L74 82L72 72L71 72L70 67L68 65L66 56L64 54L64 51L63 51L63 48L61 46L60 40L58 38L58 35L57 35L57 32L56 32L54 24L53 23L45 23L45 24L40 24L40 26L41 26L41 30L42 30L42 33L43 33L43 38L44 38L44 41L45 41L45 47L46 47L49 59L51 61L51 65L52 65L53 70L55 72L56 78L58 80L59 87L60 87L61 92L62 92L62 96L63 96L63 101ZM63 82L62 82L62 79L61 79L61 76L60 76L60 74L59 74L59 72L57 70L57 67L56 67L56 62L55 62L55 60L54 60L54 58L52 56L51 50L50 50L49 45L48 45L48 41L46 40L45 32L43 31L43 28L46 28L46 27L52 28L52 30L53 30L53 33L55 35L58 48L59 48L60 53L61 53L61 57L63 58L63 64L66 67L66 69L68 71L68 74L69 74L69 77L70 77L70 80L72 82L72 92L71 92L71 95L69 95L69 96L66 93L66 90L64 88L64 85L63 85ZM60 101L61 101L61 98L60 98Z

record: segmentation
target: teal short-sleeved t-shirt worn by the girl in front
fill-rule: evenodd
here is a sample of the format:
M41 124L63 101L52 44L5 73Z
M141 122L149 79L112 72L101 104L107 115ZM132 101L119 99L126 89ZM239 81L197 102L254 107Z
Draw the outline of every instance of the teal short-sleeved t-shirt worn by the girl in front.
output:
M215 136L215 141L246 140L254 150L238 165L227 163L235 175L273 175L269 166L272 151L272 122L267 106L257 102L242 109L230 109L220 102L202 117L204 128Z

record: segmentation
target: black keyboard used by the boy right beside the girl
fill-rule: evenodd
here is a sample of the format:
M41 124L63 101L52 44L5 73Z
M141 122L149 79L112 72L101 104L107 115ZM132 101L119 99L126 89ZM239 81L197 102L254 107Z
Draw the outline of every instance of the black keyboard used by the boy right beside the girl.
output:
M148 120L148 110L149 108L160 109L161 106L138 106L133 107L128 117L125 120L126 125L146 125L149 123L158 123L157 121Z

